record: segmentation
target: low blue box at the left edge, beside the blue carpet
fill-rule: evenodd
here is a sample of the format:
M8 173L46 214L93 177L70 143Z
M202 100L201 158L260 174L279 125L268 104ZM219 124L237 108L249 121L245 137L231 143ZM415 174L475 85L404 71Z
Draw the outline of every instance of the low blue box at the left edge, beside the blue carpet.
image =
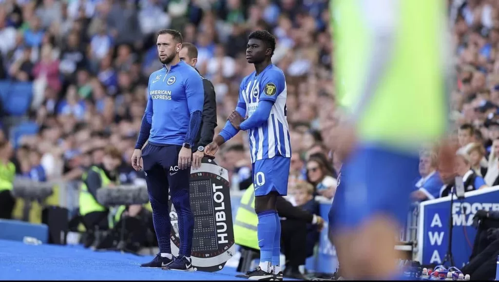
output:
M48 226L20 220L0 219L0 239L23 241L24 237L36 238L42 243L48 241Z

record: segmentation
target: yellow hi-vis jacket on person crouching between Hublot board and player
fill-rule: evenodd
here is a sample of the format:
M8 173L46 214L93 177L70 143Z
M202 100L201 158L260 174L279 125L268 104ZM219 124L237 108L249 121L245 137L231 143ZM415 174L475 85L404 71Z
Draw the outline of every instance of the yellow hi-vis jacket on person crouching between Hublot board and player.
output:
M258 216L254 211L254 187L251 184L243 194L236 213L236 221L234 222L234 240L236 244L260 249L256 231L257 225Z

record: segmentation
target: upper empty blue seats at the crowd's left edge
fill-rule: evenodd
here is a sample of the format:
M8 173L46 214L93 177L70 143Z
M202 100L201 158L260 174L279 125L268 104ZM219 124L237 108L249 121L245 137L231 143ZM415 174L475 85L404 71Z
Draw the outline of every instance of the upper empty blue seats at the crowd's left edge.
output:
M33 84L30 82L0 82L0 98L8 115L25 115L32 97Z

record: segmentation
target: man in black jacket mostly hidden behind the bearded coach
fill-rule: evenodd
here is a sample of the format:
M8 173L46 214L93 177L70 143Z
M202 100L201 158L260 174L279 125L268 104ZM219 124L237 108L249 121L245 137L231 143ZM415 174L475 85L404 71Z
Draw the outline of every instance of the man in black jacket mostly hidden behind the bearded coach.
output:
M198 62L198 48L192 43L182 43L182 49L179 52L180 59L184 60L192 67L196 67ZM197 70L197 69L196 69ZM199 71L198 71L199 72ZM200 74L201 75L201 74ZM201 75L201 77L203 77ZM203 87L205 89L205 103L203 106L203 121L201 129L194 139L197 147L193 148L192 167L199 168L201 160L205 156L205 146L213 140L215 135L215 127L217 127L217 101L215 99L215 88L212 82L203 77Z

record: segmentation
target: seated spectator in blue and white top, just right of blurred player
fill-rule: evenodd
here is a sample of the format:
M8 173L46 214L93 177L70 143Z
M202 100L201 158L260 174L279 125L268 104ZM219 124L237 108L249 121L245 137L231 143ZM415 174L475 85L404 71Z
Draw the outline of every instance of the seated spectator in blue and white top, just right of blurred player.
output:
M419 173L421 178L416 182L416 191L412 198L417 201L438 198L444 185L437 171L437 154L432 150L424 150L419 156Z

